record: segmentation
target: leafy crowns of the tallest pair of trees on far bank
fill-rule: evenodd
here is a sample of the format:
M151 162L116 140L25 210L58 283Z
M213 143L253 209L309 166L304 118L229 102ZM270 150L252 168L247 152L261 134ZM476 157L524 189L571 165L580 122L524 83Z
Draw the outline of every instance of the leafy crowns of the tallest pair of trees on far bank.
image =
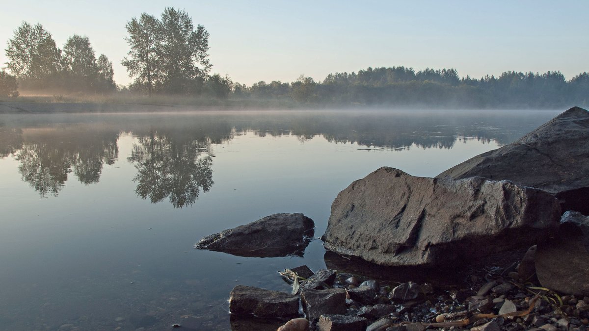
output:
M201 94L210 71L209 32L194 29L184 11L166 8L161 19L141 14L127 22L131 49L121 62L135 81L133 90ZM216 80L216 78L213 78Z

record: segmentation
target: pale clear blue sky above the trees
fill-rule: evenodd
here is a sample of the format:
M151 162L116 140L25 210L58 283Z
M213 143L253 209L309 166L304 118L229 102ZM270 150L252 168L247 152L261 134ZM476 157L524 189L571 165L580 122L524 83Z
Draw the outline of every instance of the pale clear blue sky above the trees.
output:
M589 71L589 1L9 1L0 10L0 67L22 21L42 24L59 48L85 35L132 81L125 25L143 12L184 9L210 33L211 72L241 84L322 81L332 72L403 65L455 68L461 77L514 71Z

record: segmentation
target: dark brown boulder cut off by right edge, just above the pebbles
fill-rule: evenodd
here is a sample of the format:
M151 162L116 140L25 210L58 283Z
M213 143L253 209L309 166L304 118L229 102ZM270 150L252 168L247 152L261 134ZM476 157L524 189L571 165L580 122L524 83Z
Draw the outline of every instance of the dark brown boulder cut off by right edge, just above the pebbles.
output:
M538 243L534 262L542 286L589 296L589 216L564 213L559 234Z

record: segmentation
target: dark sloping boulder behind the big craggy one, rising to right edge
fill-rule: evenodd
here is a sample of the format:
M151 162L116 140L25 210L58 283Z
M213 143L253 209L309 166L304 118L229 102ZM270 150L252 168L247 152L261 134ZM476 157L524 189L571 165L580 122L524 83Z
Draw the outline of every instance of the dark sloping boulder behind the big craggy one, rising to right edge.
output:
M541 188L562 210L589 214L589 112L573 107L514 143L449 168L438 178L480 176Z

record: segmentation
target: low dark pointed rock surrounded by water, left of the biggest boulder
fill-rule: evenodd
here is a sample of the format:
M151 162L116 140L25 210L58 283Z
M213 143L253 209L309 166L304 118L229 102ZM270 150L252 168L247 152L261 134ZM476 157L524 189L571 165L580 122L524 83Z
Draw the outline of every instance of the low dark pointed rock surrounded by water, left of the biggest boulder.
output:
M194 248L246 257L302 255L313 237L312 219L303 214L273 214L261 220L204 237Z

